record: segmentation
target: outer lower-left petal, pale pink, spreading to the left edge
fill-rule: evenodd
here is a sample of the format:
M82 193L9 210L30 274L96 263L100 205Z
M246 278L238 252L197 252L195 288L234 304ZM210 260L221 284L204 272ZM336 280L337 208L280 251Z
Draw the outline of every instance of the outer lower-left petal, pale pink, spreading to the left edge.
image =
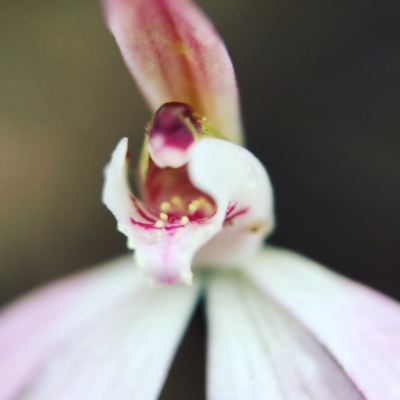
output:
M0 317L0 399L23 391L69 335L143 285L130 257L65 278L23 297Z

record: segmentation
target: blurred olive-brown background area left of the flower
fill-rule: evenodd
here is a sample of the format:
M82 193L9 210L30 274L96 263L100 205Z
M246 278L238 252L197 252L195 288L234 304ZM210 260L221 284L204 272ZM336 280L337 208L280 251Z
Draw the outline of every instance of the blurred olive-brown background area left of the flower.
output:
M1 295L122 252L100 203L122 136L149 113L96 2L22 1L0 13Z

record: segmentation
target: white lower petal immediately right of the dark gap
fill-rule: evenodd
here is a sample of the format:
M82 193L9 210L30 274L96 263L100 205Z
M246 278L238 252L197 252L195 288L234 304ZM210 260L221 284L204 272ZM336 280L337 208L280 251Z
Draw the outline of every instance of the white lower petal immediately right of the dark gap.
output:
M207 285L208 400L361 400L340 365L239 272Z

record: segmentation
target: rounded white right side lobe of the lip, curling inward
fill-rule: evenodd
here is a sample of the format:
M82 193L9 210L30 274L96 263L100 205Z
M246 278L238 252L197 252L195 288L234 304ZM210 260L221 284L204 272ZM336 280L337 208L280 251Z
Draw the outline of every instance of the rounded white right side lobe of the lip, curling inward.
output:
M273 190L264 166L243 147L205 138L193 146L189 175L193 184L217 203L219 223L227 220L229 205L235 206L232 215L245 211L225 223L224 229L200 250L197 262L243 264L260 248L274 225Z

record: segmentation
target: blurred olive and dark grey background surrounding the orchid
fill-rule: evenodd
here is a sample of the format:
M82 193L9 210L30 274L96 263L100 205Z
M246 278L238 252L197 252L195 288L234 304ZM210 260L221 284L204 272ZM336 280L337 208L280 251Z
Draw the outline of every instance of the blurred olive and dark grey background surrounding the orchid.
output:
M400 3L199 3L275 187L271 242L400 299ZM102 169L149 118L96 1L0 2L0 304L125 251Z

